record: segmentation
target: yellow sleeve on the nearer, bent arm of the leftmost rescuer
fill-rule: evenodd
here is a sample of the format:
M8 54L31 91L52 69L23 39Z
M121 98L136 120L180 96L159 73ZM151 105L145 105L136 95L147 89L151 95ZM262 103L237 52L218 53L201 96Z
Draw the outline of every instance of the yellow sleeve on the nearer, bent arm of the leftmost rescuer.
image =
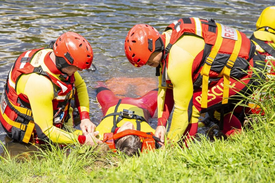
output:
M58 144L71 144L78 141L73 133L53 126L54 98L50 80L36 73L22 75L17 83L17 94L24 94L30 101L35 130L39 139L51 140Z

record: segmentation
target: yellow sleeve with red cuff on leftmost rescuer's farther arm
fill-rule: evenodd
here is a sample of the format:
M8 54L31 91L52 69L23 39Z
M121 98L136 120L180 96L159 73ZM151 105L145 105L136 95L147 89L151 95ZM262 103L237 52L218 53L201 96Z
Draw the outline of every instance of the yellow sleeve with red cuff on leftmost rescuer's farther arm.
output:
M86 84L80 74L75 72L75 105L80 113L80 119L89 119L89 95Z

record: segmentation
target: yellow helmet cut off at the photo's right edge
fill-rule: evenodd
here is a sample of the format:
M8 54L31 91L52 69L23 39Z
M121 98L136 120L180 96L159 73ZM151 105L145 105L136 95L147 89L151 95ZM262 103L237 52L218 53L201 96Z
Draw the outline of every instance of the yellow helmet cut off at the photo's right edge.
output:
M264 27L269 27L268 32L275 33L275 6L265 8L256 23L257 30L265 30Z

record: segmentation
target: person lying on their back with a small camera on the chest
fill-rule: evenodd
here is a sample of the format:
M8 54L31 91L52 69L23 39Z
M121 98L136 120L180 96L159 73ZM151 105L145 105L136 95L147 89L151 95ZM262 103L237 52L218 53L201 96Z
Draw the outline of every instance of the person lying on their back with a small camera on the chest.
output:
M157 93L156 89L139 98L119 99L111 90L99 87L97 101L104 117L96 127L99 131L98 139L104 140L105 133L117 134L124 130L154 133L155 130L148 124L148 119L154 116L157 108ZM118 139L115 147L132 156L142 150L142 142L137 135L127 135Z

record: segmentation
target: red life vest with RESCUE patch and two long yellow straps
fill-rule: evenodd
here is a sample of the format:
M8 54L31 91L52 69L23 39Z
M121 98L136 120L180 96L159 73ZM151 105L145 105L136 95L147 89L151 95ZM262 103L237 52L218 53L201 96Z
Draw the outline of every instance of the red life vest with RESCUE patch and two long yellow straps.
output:
M173 22L165 31L171 29L171 38L164 50L162 84L172 87L166 80L169 51L183 34L193 34L204 39L204 50L195 58L192 66L194 88L202 87L202 108L207 108L207 91L212 81L224 78L222 103L228 103L230 76L240 78L248 68L255 52L255 45L238 30L216 23L213 19L182 18ZM188 43L186 43L188 44Z

